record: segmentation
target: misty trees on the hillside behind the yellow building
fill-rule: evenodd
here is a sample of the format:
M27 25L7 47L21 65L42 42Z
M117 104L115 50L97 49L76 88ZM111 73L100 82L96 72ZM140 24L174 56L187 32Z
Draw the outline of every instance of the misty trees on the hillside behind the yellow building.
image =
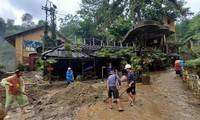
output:
M4 66L5 71L15 69L15 48L10 45L4 37L35 27L32 22L33 17L25 13L22 16L22 25L14 25L15 20L7 19L6 21L0 17L0 66ZM41 21L37 25L42 24Z

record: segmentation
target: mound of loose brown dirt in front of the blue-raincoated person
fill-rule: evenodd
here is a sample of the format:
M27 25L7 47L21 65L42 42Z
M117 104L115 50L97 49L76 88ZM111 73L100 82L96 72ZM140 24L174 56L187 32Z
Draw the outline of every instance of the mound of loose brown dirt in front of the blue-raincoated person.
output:
M31 119L70 119L77 115L79 107L93 105L102 95L90 84L75 82L54 94L41 97L34 103L35 116Z

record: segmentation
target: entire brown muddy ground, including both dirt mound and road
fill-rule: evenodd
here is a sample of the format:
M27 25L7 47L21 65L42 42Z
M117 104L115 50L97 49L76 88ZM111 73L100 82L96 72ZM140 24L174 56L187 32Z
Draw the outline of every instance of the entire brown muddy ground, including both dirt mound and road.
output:
M152 73L150 85L137 83L134 106L128 105L126 93L121 97L124 112L118 112L115 103L109 109L103 102L106 82L92 80L44 90L29 87L28 93L38 98L27 106L30 113L21 115L17 110L9 114L12 120L199 120L200 97L174 76L173 71Z

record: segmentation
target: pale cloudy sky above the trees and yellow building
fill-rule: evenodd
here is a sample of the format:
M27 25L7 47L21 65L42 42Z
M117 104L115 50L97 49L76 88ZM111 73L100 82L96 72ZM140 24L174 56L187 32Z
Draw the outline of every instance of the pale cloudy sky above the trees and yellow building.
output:
M79 9L81 0L50 0L57 6L57 11L61 14L75 14ZM200 0L185 0L186 6L192 12L200 11ZM41 9L46 4L46 0L1 0L0 17L6 21L8 18L14 19L15 24L21 24L21 17L24 13L33 16L34 22L45 19L45 12ZM62 16L57 16L62 17Z

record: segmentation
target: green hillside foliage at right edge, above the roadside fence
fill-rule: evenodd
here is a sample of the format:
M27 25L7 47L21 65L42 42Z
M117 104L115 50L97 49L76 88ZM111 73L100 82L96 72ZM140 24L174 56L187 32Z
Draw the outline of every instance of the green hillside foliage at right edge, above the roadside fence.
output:
M186 66L191 69L197 69L200 66L200 13L191 19L184 19L176 25L177 35L180 38L182 47L180 51L193 56L194 59L187 60ZM189 43L193 43L190 48Z

